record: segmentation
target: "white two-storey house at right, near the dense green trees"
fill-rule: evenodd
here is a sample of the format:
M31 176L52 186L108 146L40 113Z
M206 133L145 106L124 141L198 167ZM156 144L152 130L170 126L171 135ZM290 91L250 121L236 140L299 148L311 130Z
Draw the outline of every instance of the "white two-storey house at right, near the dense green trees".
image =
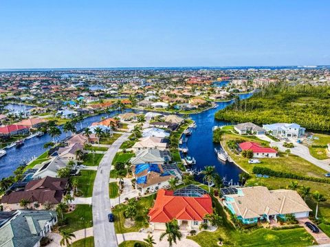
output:
M263 128L273 137L300 138L305 134L305 128L299 124L264 124Z

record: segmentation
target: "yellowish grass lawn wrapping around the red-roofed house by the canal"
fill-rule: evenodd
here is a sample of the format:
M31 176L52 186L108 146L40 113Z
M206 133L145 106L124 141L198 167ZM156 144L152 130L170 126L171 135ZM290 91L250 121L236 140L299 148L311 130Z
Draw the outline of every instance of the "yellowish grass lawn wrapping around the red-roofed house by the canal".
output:
M260 158L261 163L259 164L249 164L249 158L243 158L239 154L234 154L227 145L227 141L234 140L234 139L243 139L245 141L254 141L257 143L263 143L263 145L268 145L267 142L261 141L256 137L245 137L240 136L238 134L226 133L223 134L223 141L221 144L225 143L224 148L230 155L230 157L243 169L247 170L249 173L252 173L252 168L254 166L259 167L267 167L273 169L274 171L281 171L281 172L292 172L293 174L298 174L302 176L314 176L318 178L324 178L324 174L326 173L324 169L309 163L303 158L296 156L294 154L285 154L279 152L278 158Z

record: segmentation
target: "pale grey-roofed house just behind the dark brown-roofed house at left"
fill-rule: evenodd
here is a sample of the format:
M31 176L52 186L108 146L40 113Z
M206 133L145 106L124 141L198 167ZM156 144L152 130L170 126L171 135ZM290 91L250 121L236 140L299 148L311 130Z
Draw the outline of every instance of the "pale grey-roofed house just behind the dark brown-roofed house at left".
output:
M55 178L58 169L65 167L67 167L67 160L56 156L52 161L45 161L42 163L41 167L33 174L32 178L45 178L47 176Z

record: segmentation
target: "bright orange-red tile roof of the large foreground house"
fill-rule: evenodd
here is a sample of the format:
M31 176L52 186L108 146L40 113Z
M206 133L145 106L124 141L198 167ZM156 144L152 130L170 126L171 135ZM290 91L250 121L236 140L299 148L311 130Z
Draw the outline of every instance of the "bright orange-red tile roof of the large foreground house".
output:
M212 213L212 200L209 195L201 198L173 196L173 191L160 189L153 209L148 213L150 222L169 222L177 220L201 221Z

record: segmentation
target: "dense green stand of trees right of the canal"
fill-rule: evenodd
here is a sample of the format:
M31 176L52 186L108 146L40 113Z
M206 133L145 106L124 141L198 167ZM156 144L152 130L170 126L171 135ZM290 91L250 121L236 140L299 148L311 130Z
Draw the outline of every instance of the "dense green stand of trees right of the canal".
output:
M330 86L272 84L215 114L219 120L254 124L296 123L330 130Z

